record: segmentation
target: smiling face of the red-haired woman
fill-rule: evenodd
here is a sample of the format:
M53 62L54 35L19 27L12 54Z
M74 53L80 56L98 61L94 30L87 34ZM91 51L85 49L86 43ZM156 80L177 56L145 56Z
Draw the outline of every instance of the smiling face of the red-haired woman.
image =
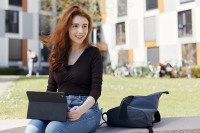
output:
M72 45L81 45L88 34L88 20L85 17L75 16L69 28L69 37Z

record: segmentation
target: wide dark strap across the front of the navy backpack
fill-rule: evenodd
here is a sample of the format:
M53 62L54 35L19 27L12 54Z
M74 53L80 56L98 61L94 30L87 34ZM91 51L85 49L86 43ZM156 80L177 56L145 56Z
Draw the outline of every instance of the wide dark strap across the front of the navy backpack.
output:
M120 120L125 120L126 115L127 115L127 106L131 103L133 100L134 96L128 96L124 99L121 109L120 109L120 114L119 114L119 119Z

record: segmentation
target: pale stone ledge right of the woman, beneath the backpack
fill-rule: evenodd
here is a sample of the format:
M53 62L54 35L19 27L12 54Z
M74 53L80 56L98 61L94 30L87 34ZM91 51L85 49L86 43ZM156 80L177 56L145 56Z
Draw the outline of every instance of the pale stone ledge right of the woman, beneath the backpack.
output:
M200 116L162 118L155 123L154 133L200 133ZM148 133L147 129L113 128L102 125L95 133Z

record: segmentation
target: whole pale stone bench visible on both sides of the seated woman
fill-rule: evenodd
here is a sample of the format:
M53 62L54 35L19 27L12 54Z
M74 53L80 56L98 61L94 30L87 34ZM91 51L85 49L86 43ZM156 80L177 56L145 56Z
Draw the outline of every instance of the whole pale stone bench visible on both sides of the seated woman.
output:
M29 120L0 120L0 133L23 133ZM162 118L154 133L200 133L200 116ZM94 133L148 133L147 129L108 127L103 124Z

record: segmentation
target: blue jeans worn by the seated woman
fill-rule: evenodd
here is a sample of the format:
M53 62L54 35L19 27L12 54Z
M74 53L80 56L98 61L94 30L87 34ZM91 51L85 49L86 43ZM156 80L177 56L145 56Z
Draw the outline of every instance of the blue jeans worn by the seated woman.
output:
M66 96L69 109L80 106L87 96ZM33 119L26 127L25 133L89 133L98 128L101 120L101 111L95 103L76 121L44 121Z

